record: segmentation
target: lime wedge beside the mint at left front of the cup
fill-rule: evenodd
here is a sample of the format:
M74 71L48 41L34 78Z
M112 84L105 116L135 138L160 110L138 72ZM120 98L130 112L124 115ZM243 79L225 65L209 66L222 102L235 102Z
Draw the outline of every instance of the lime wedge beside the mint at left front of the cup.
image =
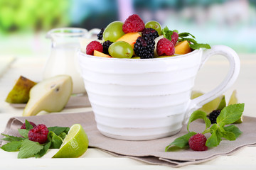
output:
M59 151L53 158L76 158L82 156L88 148L88 137L80 124L72 125L63 140Z

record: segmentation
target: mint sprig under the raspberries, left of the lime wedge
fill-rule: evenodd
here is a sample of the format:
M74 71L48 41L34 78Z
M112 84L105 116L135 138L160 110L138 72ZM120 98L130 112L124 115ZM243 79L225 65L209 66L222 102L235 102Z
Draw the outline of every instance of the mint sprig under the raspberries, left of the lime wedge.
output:
M43 155L47 153L48 149L60 148L60 145L63 143L63 139L70 130L68 127L49 127L48 142L45 144L39 144L38 142L28 140L28 132L33 128L33 126L28 122L28 120L26 120L25 123L26 129L18 129L18 132L22 137L1 134L4 136L1 140L9 142L0 148L6 152L18 151L18 158L43 157Z

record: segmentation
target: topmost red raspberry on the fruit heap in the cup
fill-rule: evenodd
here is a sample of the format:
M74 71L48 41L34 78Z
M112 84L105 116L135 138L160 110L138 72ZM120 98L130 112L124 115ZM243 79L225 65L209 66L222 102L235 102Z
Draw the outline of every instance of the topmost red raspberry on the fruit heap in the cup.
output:
M144 30L145 24L137 14L129 16L122 26L124 33L134 33Z

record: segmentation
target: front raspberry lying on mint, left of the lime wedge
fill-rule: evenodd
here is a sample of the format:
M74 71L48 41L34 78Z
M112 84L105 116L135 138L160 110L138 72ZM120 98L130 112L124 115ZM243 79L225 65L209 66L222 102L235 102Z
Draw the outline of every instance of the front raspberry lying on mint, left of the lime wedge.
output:
M47 142L48 128L46 125L39 124L35 128L29 130L28 140L39 142L40 144Z

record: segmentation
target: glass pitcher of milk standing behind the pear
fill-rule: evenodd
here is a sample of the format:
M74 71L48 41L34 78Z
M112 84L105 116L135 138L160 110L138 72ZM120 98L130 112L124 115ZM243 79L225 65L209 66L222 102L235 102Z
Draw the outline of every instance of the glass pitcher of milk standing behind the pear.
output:
M80 48L79 38L92 38L99 29L88 31L83 28L55 28L46 38L52 41L51 52L43 71L43 79L58 74L68 74L73 79L73 94L85 94L85 86L80 76L77 51Z

